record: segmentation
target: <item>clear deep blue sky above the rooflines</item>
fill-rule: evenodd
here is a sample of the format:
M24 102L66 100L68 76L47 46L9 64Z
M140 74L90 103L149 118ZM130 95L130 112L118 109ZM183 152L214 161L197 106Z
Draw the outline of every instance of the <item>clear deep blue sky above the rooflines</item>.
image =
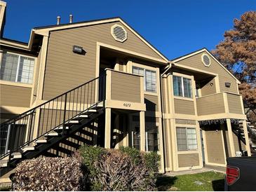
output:
M169 59L206 47L215 48L234 18L255 11L255 0L58 1L8 0L4 37L29 40L32 28L121 17Z

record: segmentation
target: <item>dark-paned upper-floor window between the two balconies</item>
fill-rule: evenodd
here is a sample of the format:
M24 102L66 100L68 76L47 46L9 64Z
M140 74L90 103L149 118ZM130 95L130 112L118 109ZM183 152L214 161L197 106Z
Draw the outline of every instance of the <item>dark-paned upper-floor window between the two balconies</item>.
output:
M191 79L183 76L173 76L173 95L191 98Z

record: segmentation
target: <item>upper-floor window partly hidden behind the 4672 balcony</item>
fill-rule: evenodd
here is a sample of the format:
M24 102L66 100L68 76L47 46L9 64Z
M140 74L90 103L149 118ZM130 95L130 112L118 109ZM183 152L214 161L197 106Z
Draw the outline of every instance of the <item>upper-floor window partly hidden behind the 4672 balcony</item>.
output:
M144 90L156 92L156 71L133 66L133 74L144 76Z

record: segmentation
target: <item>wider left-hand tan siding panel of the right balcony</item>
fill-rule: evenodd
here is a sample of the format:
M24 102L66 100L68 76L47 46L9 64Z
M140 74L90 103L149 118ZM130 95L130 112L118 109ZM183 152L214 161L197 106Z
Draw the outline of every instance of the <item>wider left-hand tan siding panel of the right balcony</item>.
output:
M221 114L225 112L223 94L210 95L196 99L198 116Z

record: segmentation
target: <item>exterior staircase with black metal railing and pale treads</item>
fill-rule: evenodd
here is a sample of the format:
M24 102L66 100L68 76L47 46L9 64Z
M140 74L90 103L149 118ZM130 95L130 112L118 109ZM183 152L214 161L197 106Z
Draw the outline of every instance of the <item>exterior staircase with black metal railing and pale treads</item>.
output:
M94 78L0 125L0 176L55 149L104 114L105 76ZM23 130L23 131L21 131Z

